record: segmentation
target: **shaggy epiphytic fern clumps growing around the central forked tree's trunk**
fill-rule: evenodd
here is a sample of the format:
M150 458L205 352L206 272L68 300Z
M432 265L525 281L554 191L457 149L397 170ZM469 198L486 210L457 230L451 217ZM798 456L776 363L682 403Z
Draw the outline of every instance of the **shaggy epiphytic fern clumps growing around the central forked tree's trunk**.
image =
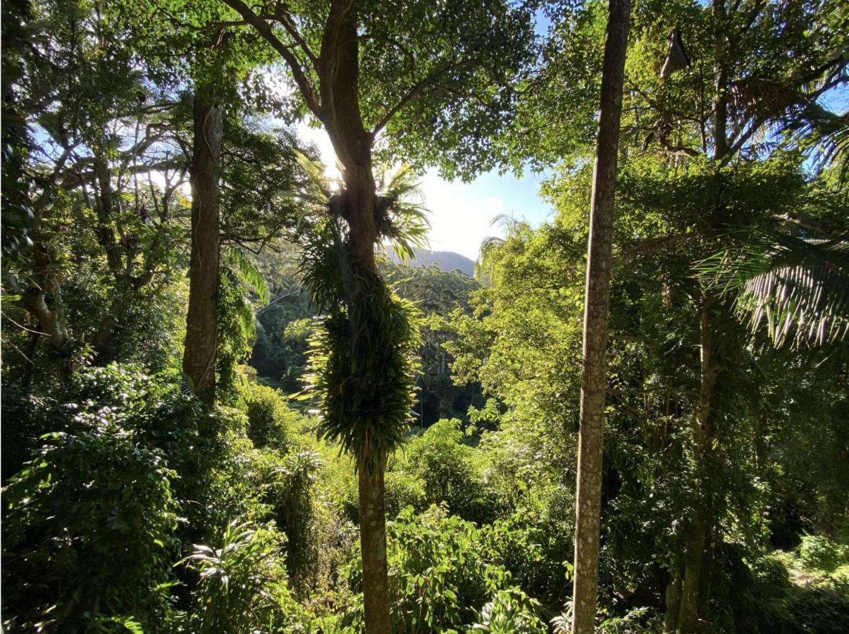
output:
M310 340L307 392L318 396L323 437L339 442L357 468L373 474L413 420L418 322L410 302L379 274L357 265L346 221L330 213L333 188L316 164L305 171L317 182L303 199L317 206L302 216L300 271L324 315ZM381 188L375 210L380 238L407 256L426 231L424 210L410 202L415 186L409 175L402 169Z

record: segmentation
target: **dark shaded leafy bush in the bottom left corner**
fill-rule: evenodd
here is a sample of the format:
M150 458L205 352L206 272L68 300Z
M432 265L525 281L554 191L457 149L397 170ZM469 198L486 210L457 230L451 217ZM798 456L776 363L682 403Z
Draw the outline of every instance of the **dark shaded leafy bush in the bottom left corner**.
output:
M174 472L121 412L69 411L3 491L4 622L21 631L127 614L154 622L178 553Z

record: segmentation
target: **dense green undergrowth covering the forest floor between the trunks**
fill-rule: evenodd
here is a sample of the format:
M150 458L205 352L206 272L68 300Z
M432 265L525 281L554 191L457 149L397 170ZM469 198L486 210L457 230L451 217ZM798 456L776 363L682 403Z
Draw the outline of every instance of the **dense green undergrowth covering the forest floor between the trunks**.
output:
M240 390L205 414L177 376L129 365L78 373L60 399L4 390L6 631L362 631L350 459L276 390ZM386 479L396 631L564 620L571 491L537 462L509 427L412 434ZM723 544L728 631L846 631L847 533ZM605 594L601 631L657 631L650 596Z

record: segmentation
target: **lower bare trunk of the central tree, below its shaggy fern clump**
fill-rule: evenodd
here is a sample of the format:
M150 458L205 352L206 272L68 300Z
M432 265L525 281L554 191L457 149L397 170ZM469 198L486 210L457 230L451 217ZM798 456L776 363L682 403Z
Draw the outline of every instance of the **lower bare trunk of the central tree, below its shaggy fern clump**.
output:
M374 475L360 468L360 551L363 603L368 634L391 634L386 573L386 503L383 468Z

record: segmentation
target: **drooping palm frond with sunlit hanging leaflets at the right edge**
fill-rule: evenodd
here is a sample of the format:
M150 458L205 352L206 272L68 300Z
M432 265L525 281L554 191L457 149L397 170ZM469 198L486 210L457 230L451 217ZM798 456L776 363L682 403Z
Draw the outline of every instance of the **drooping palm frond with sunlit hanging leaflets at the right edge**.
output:
M752 332L766 324L773 345L826 345L849 334L849 242L763 232L696 265L700 277L734 295Z

